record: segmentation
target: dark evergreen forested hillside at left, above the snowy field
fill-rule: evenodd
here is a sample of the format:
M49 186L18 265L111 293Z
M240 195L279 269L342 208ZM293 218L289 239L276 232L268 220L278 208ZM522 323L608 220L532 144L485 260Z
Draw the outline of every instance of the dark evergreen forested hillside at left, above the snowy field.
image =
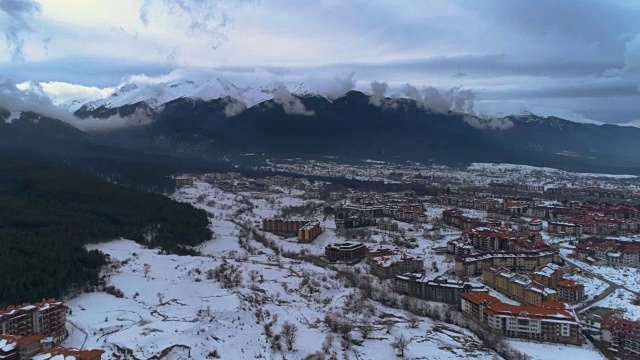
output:
M169 252L210 238L202 210L64 165L0 157L0 305L96 284L84 244L125 237Z

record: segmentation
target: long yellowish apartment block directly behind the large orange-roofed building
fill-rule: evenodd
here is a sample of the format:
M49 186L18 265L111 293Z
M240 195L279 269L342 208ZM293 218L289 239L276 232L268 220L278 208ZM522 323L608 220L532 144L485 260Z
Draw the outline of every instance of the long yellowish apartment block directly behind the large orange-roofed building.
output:
M504 268L484 270L482 280L485 285L521 303L540 306L546 301L558 300L555 290Z

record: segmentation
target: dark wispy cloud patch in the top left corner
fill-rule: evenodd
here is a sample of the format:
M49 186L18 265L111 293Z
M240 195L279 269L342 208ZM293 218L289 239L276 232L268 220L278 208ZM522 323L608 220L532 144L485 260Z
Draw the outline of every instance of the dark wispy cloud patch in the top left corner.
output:
M32 30L29 24L30 18L38 14L41 9L40 4L33 0L0 1L0 11L8 16L8 21L3 26L3 31L13 61L25 61L24 39L21 33Z

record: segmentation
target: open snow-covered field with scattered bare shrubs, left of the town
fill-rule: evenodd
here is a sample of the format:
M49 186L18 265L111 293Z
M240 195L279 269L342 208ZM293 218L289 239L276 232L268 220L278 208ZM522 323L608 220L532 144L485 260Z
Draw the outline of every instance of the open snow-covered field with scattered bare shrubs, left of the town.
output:
M341 345L341 336L335 334L328 354L335 353L338 358L344 354L362 360L395 358L391 342L400 335L411 340L407 358L493 357L467 330L429 318L420 318L418 326L412 328L408 326L410 316L406 311L371 300L354 306L358 290L346 286L336 270L278 256L272 247L252 237L240 244L243 229L238 224L258 229L262 218L276 216L283 206L302 205L305 201L299 195L230 194L204 183L181 190L176 199L205 209L212 219L214 239L199 247L202 256L161 255L158 250L123 239L91 246L109 254L116 264L106 275L108 284L121 290L123 297L97 292L71 299L68 302L71 335L64 345L102 348L107 351L105 358L113 358L119 349L127 349L137 358L149 358L164 351L169 353L165 359L204 359L217 351L223 359L302 359L321 350L331 333L322 320L325 314L338 311L340 318L356 325L368 321L373 325L366 339L357 329L351 331L348 348ZM313 217L322 219L319 212ZM294 239L270 234L266 237L275 241L281 251L306 250L320 255L326 244L344 241L336 234L333 221L327 219L323 226L324 233L313 244L298 244ZM402 225L405 236L416 237L418 248L412 251L426 257L427 273L443 273L453 263L446 263L443 255L433 254L431 249L442 246L447 238L459 232L425 238L424 227ZM381 241L385 236L374 232L371 241ZM438 264L437 271L431 269L433 262ZM225 288L223 280L208 275L210 270L220 270L223 264L239 269L227 272L240 274L239 286ZM365 264L356 267L366 271ZM388 282L386 285L379 280L374 282L389 286ZM369 311L371 314L366 315ZM284 343L282 350L273 350L274 335L269 333L279 333L285 321L297 326L297 341L292 350ZM392 325L390 331L388 323Z

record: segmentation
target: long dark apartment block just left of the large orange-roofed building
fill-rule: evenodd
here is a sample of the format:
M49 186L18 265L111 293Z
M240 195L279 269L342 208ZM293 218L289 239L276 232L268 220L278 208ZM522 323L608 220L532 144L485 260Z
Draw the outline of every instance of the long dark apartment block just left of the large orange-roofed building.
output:
M411 273L396 275L394 284L395 290L399 293L452 305L460 304L460 294L485 289L478 283L448 279L443 276L427 278L423 274Z

